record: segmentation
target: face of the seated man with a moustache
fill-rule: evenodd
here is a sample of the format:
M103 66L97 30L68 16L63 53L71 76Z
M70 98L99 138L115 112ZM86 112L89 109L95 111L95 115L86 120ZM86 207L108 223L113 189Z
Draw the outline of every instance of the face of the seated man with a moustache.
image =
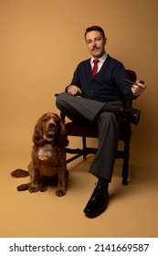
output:
M86 35L86 43L90 51L90 55L99 59L105 53L106 38L103 38L100 31L90 31Z

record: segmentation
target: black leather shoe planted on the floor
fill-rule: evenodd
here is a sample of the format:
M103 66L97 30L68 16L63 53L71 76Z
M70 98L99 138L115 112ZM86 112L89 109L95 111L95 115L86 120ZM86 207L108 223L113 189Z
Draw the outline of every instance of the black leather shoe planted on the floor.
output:
M99 216L108 206L109 192L100 186L94 188L94 191L90 197L90 200L84 208L84 213L89 218Z

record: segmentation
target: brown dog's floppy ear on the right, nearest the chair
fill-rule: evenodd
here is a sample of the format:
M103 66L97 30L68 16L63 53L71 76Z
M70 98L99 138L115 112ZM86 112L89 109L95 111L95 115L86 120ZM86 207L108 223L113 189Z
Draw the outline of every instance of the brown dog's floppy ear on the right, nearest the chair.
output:
M65 147L68 145L68 133L65 128L65 124L61 118L59 118L57 113L54 113L59 125L58 133L58 146Z

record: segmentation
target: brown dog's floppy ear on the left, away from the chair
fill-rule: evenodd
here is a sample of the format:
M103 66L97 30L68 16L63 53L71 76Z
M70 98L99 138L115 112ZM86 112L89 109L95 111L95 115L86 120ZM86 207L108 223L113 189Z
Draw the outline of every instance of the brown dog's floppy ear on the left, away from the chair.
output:
M41 145L41 144L44 144L44 142L45 142L45 140L43 138L43 129L42 129L43 119L44 119L44 115L38 119L37 124L34 128L34 133L33 133L33 143L34 144Z

